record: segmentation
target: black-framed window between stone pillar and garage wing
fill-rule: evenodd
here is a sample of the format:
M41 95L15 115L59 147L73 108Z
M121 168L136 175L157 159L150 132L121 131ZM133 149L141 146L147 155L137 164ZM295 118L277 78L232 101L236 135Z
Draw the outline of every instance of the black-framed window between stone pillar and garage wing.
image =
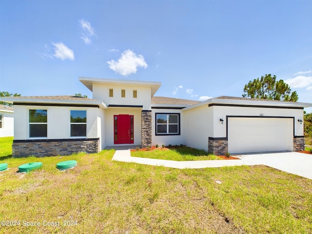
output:
M180 135L180 114L156 113L156 135Z

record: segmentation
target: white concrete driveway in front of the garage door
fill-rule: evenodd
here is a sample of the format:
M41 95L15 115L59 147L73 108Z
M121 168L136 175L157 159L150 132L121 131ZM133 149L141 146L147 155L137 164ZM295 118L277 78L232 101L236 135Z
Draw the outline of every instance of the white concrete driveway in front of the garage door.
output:
M237 156L242 160L263 164L278 170L312 179L312 155L297 152Z

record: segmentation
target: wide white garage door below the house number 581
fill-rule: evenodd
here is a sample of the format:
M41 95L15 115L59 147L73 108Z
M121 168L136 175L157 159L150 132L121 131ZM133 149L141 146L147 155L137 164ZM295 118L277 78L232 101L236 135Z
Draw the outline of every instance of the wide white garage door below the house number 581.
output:
M229 117L230 154L293 151L293 118Z

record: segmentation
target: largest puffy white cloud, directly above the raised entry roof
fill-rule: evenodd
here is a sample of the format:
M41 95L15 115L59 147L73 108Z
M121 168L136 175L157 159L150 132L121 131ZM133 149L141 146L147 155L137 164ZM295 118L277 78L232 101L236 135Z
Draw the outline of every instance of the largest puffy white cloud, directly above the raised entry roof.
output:
M131 50L125 50L122 52L121 57L115 61L107 61L109 68L122 76L128 76L130 74L137 73L137 68L147 68L147 63L142 55L136 55Z

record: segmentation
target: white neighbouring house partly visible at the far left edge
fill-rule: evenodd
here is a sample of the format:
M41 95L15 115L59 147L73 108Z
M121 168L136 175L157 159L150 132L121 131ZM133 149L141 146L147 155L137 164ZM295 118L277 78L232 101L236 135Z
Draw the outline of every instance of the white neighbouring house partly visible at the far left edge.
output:
M0 137L14 136L14 108L0 104Z

